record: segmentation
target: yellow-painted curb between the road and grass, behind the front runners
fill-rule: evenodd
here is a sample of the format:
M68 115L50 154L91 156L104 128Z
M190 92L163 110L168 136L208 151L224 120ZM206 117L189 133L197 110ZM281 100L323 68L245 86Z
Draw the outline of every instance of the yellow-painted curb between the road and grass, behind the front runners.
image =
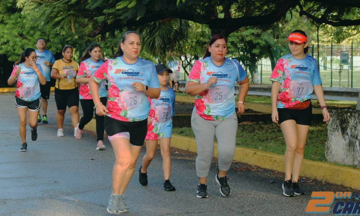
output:
M95 124L96 122L93 118L84 127L84 129L95 132ZM196 140L194 138L188 138L181 135L172 135L171 147L195 153L197 152ZM217 143L215 143L214 157L219 157L219 153L217 152ZM234 161L284 172L284 156L280 154L244 147L236 147ZM351 188L360 188L360 169L304 159L301 168L301 175Z

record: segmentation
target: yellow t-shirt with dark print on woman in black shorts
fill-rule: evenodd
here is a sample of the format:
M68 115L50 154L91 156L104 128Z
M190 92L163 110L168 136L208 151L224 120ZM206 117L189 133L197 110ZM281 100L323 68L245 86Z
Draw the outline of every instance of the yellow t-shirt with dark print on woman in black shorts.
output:
M76 84L76 74L79 69L79 66L76 62L71 60L70 63L64 62L63 59L56 60L54 65L54 69L59 71L59 75L62 76L68 73L68 76L61 79L56 79L55 88L57 89L75 89L77 87Z

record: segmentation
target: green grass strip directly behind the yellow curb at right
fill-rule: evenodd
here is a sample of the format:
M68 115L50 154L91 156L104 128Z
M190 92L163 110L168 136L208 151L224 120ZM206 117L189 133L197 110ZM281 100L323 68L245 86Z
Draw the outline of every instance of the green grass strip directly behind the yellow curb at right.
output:
M172 132L178 135L195 137L191 127L173 128ZM325 123L311 126L307 137L304 158L312 161L328 162L325 158L327 136L328 132ZM273 123L239 125L237 145L282 155L286 149L280 126Z

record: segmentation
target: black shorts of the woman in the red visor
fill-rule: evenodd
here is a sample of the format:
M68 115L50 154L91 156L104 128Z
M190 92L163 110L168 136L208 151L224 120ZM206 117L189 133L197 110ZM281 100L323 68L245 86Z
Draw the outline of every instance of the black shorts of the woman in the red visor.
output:
M278 108L279 124L286 120L295 120L298 125L311 125L312 106L306 109Z

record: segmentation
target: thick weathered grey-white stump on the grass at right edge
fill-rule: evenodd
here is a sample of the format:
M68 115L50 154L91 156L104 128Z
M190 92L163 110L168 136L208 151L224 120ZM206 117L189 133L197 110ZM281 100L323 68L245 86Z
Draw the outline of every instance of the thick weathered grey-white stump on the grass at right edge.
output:
M360 168L360 111L332 110L325 156L330 162Z

